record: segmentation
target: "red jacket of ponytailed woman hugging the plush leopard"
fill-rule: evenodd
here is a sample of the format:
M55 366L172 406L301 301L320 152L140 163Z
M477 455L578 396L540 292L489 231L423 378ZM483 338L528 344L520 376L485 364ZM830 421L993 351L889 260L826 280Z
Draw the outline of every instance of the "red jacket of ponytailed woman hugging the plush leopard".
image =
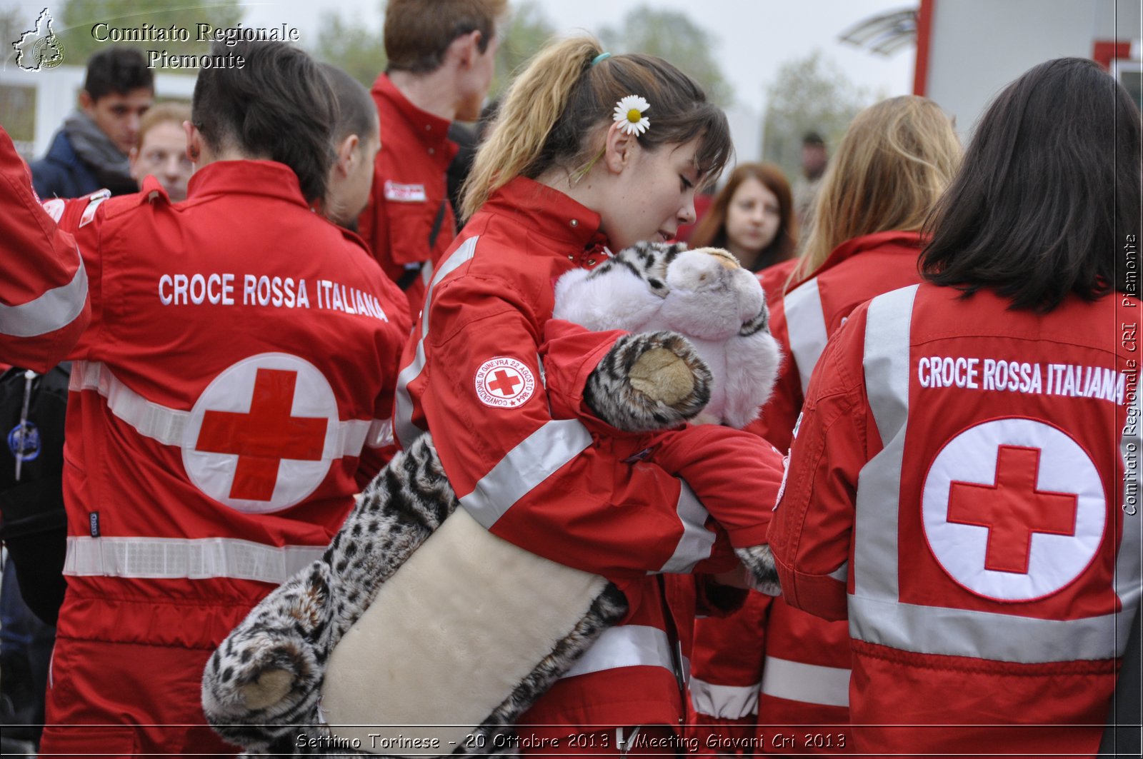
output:
M729 494L728 484L737 482L734 501L750 488L773 488L776 462L774 469L751 465L764 461L758 452L769 447L721 428L684 431L681 445L663 442L652 460L632 460L641 444L601 434L591 420L559 418L561 404L566 409L581 400L547 392L538 353L552 336L546 329L554 281L607 255L599 225L598 214L530 179L513 179L494 193L434 273L406 347L394 430L405 446L424 429L432 431L461 504L490 532L615 580L628 593L626 624L605 633L523 721L670 725L682 713L668 634L671 615L647 574L733 564L695 492ZM584 357L593 350L598 361L616 337L580 334L590 346L567 350L578 363L557 362L574 375L558 383L561 388L582 388L594 366ZM708 436L737 440L735 450L745 453L727 455L726 466L719 466L719 454L703 461L709 473L705 480L694 474L693 490L676 473L711 450ZM740 465L751 472L740 473ZM743 489L744 482L758 485ZM767 517L758 513L758 503L750 505L757 538ZM688 638L693 613L679 608L686 606L678 599L673 618Z

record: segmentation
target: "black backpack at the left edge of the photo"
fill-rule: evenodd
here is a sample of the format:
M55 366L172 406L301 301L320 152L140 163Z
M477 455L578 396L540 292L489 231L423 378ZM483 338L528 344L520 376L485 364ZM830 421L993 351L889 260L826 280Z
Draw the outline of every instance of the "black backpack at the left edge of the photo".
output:
M66 588L63 468L70 377L70 362L42 375L17 368L0 375L0 540L25 604L48 624L55 624Z

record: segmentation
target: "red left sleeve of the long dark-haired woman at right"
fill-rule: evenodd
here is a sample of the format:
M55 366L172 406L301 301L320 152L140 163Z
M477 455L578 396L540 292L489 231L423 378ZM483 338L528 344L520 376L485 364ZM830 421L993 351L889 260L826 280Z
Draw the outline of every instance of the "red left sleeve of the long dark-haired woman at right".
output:
M846 617L857 476L869 460L864 335L863 306L814 369L769 530L783 597L828 620Z

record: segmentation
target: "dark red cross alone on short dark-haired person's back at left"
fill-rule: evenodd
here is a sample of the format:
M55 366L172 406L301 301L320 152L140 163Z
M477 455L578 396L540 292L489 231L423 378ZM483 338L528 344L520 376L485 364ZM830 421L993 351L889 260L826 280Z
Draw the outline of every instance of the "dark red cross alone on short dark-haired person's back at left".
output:
M238 455L230 497L270 501L281 460L321 458L329 420L290 416L296 383L296 371L258 369L249 414L203 415L195 449Z

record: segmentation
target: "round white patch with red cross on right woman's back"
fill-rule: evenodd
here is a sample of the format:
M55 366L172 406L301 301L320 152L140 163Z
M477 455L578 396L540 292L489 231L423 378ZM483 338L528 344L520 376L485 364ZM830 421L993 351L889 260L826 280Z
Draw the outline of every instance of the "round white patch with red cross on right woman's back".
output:
M1070 584L1095 558L1106 522L1098 470L1060 429L984 422L944 445L921 498L925 535L965 589L1029 601Z

